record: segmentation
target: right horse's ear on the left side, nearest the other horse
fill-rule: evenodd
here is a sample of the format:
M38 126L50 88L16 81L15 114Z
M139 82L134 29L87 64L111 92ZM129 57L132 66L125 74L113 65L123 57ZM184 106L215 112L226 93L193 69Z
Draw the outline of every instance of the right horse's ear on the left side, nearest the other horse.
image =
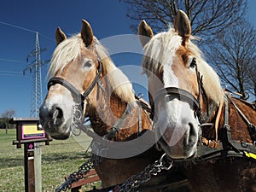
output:
M150 38L154 37L151 27L148 26L145 20L142 20L140 22L140 25L138 26L138 34L143 47L145 46L145 44L148 44Z

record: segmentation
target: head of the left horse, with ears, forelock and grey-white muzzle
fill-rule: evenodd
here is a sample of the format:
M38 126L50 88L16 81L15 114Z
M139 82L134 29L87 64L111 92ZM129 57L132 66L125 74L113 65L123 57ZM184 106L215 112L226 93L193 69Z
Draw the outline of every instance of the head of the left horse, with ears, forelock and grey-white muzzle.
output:
M58 27L55 39L57 47L49 66L48 93L39 116L51 137L66 139L73 124L84 118L87 101L95 98L102 62L96 55L95 38L86 20L82 20L81 32L71 38Z

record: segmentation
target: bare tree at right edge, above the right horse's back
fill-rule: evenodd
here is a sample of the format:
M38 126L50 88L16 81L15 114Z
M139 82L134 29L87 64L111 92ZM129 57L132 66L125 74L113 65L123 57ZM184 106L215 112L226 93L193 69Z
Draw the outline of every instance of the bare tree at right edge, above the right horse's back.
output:
M256 31L245 20L219 32L209 44L207 59L231 90L255 96Z

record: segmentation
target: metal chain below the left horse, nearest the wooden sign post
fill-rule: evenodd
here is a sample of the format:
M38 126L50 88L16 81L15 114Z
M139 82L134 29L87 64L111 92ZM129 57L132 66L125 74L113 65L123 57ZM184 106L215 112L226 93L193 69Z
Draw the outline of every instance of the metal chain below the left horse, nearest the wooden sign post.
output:
M79 167L78 172L70 174L69 177L67 177L67 180L62 183L60 187L55 189L54 192L60 192L61 190L67 191L67 189L71 189L72 183L78 182L79 179L84 178L84 176L101 161L101 157L93 155L88 161Z

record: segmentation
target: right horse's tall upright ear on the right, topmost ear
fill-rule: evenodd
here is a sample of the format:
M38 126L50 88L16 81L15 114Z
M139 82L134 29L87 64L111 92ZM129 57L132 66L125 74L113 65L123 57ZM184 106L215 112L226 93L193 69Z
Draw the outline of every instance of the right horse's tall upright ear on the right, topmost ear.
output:
M177 15L174 20L174 29L177 34L183 38L184 45L191 35L191 26L189 17L182 10L177 11Z

